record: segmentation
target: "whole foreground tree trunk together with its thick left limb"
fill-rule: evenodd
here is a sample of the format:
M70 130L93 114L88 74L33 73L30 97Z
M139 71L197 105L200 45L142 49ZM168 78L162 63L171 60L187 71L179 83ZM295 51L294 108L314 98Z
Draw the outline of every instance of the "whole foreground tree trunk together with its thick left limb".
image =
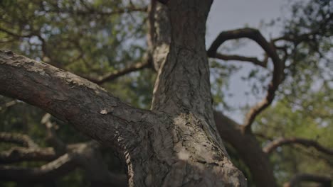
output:
M0 52L0 94L39 106L115 148L127 163L129 186L246 186L213 118L204 39L211 3L173 0L152 6L170 21L169 35L163 35L154 19L162 23L167 17L151 17L157 29L152 59L158 69L152 111L133 108L90 81L12 52Z

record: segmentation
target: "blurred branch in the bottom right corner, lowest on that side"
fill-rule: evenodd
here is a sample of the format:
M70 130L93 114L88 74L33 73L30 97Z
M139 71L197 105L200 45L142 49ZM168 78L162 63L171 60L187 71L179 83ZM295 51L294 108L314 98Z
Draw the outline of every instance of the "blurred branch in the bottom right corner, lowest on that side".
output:
M314 174L296 174L292 179L285 183L283 187L295 187L302 181L321 183L322 187L331 187L332 178L329 176L318 176Z

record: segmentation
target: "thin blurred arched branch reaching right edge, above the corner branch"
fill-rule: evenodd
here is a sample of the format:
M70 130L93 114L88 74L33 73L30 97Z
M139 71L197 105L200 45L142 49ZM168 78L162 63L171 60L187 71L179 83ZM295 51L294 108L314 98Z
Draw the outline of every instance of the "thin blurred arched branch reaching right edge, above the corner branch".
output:
M277 147L280 147L282 145L292 145L292 144L303 145L305 147L314 147L314 149L317 149L317 151L319 152L333 155L333 149L327 149L326 147L323 147L314 140L307 140L305 138L300 138L300 137L289 137L289 138L281 137L277 140L274 140L273 142L270 142L269 145L263 148L263 152L270 154Z

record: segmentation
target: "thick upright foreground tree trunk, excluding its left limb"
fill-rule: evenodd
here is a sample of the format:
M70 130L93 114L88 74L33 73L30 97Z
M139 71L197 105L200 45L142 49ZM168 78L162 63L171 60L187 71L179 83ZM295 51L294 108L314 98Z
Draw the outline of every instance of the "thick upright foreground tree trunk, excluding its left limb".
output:
M162 64L155 63L159 73L152 102L152 111L167 119L154 124L147 135L147 142L151 142L145 151L149 154L136 155L134 158L140 158L135 159L137 162L128 162L133 176L130 183L245 186L243 174L228 159L213 119L205 47L211 1L169 1L167 6L171 29L166 29L171 40L153 44L158 47L153 50L165 51L169 45L169 53L166 58L163 54L154 55L154 62ZM157 37L168 37L162 33L159 30Z

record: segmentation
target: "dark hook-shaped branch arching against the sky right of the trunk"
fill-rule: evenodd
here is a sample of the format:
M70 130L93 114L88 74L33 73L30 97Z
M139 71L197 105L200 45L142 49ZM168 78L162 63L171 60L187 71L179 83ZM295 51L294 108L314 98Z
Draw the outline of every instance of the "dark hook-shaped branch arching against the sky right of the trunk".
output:
M277 52L275 50L275 47L270 42L268 42L263 37L263 35L261 35L259 30L254 28L241 28L237 30L228 30L220 33L220 35L218 35L216 40L214 40L213 43L211 44L211 47L209 47L207 52L208 57L216 57L218 47L220 47L223 44L223 42L238 38L249 38L257 42L258 45L260 45L260 47L262 47L263 50L265 50L268 57L270 57L270 59L273 61L273 66L274 66L273 78L270 81L270 84L268 85L268 91L265 98L263 98L263 101L260 101L255 106L253 106L253 108L250 109L250 111L245 117L245 122L243 127L245 132L250 132L251 124L255 120L255 117L259 113L261 113L265 108L270 106L270 103L273 102L273 99L275 97L275 91L277 90L277 87L282 81L284 62L280 60L280 57L277 55Z

